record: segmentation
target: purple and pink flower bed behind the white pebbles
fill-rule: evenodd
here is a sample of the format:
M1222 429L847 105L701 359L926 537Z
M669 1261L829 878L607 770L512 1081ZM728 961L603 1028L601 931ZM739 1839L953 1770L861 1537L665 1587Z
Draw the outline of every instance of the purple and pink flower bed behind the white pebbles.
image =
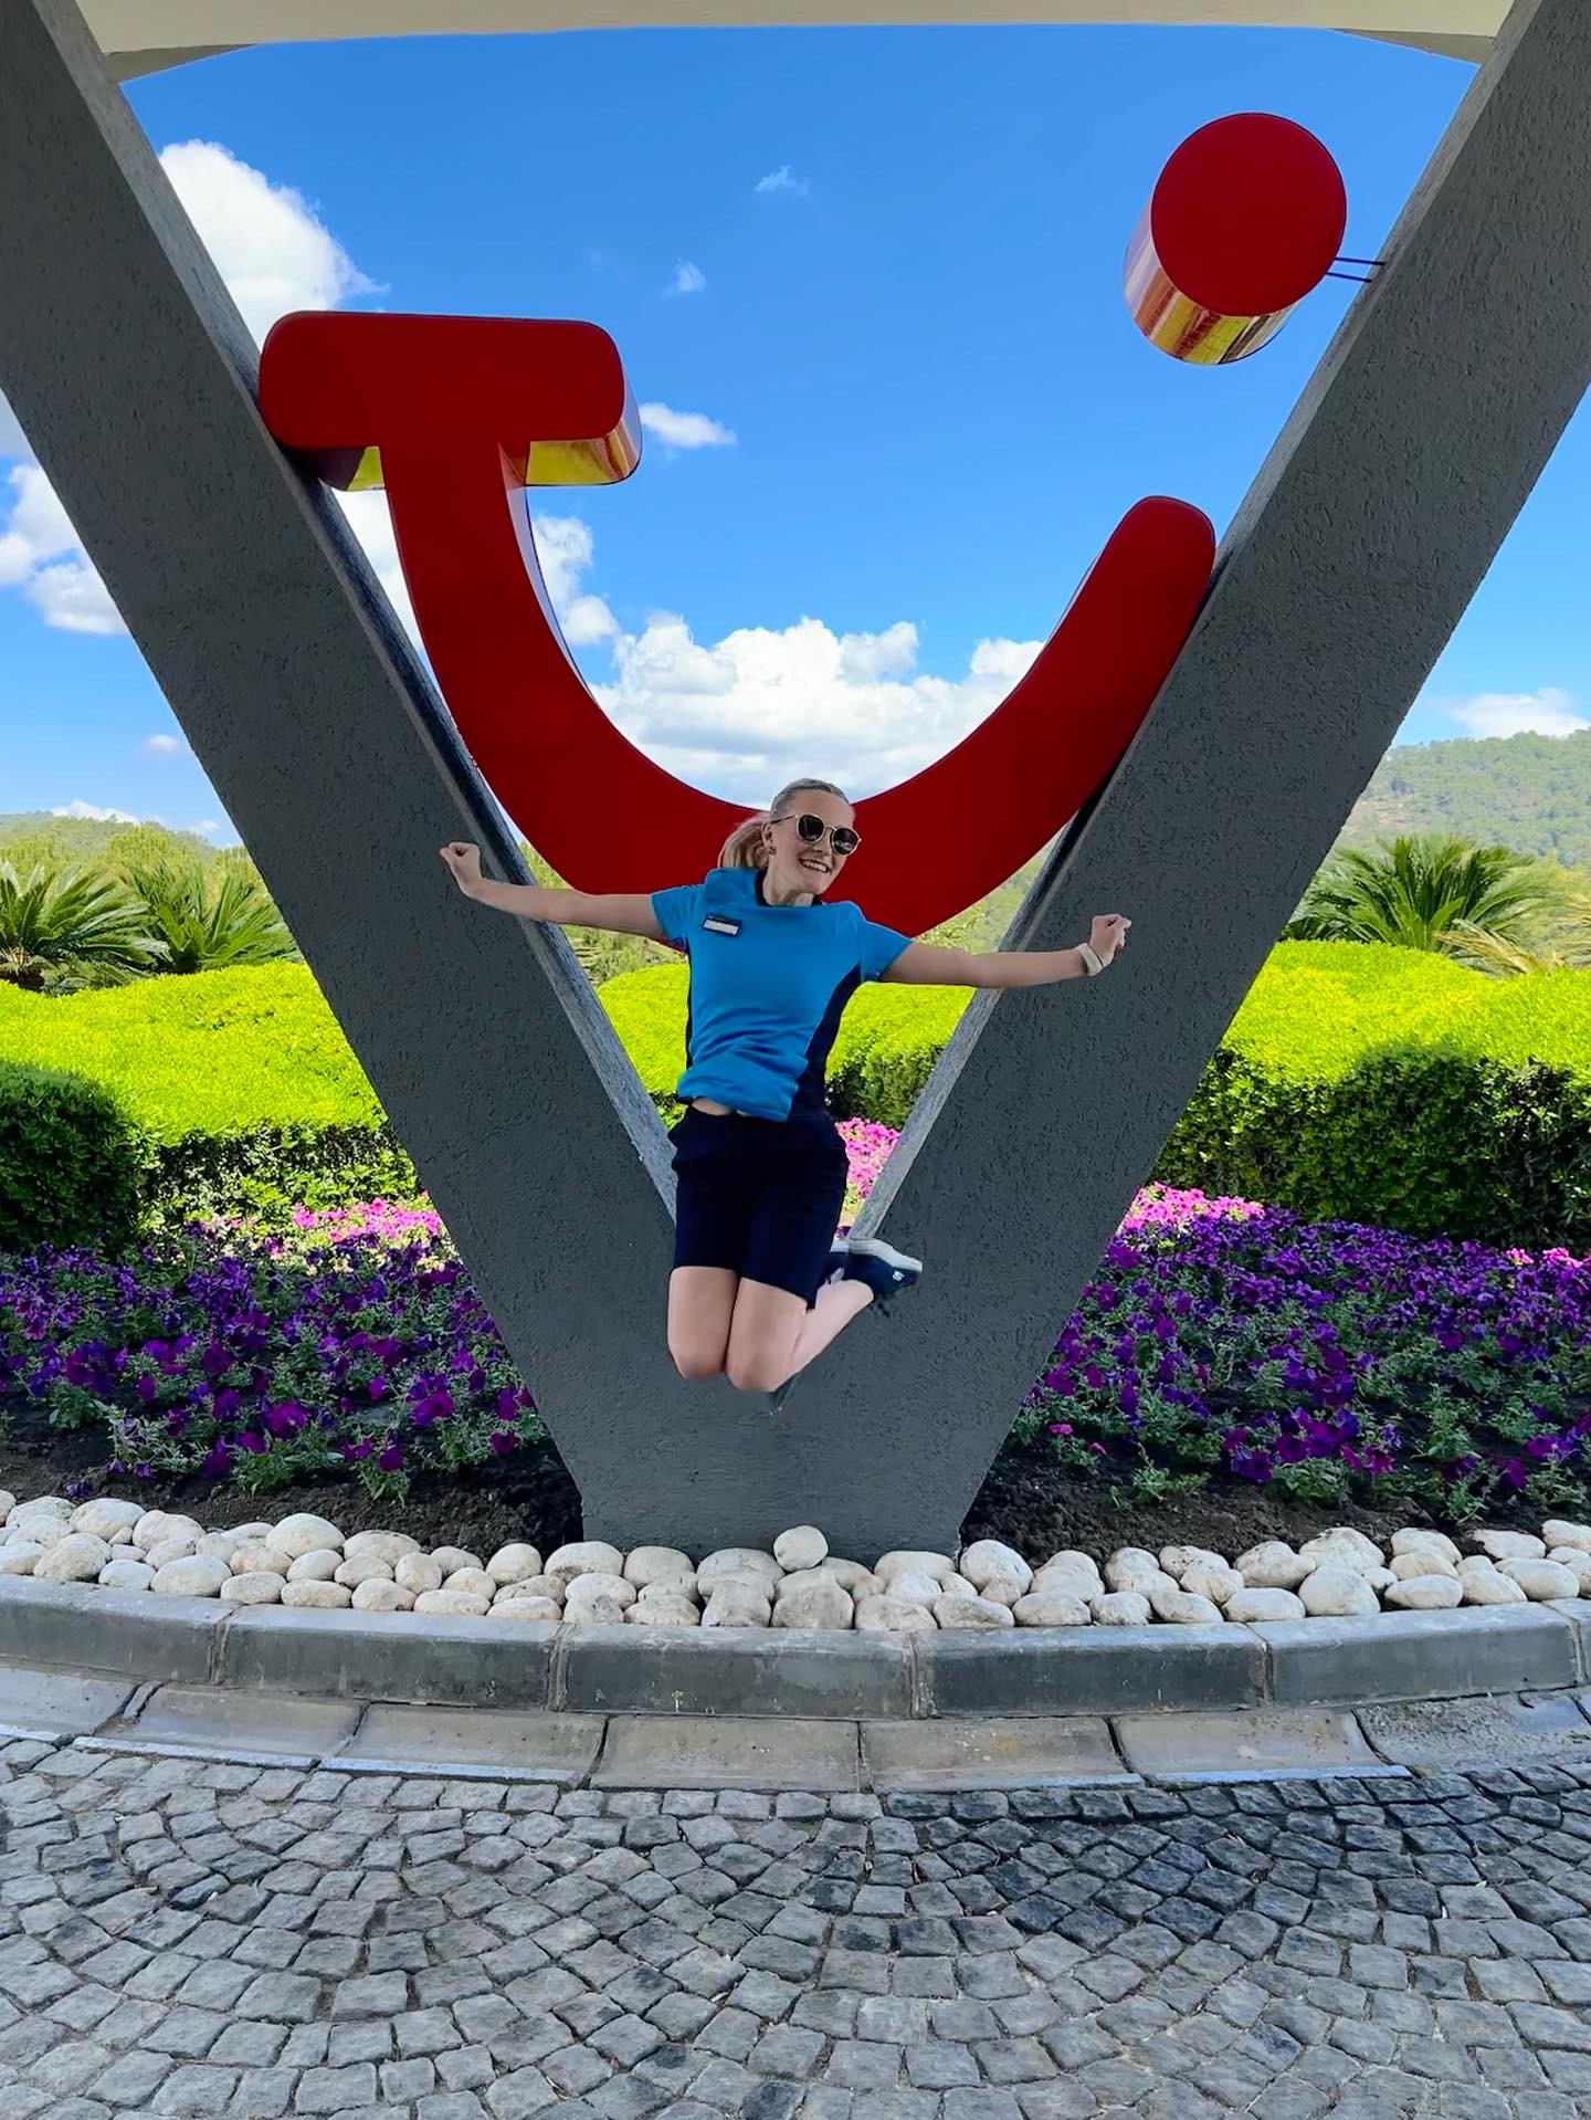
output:
M843 1134L860 1200L896 1136ZM104 1433L83 1492L352 1469L400 1497L544 1437L424 1202L297 1211L286 1236L193 1223L125 1261L0 1257L0 1408ZM1123 1503L1237 1480L1453 1522L1585 1507L1591 1264L1146 1187L1013 1433Z

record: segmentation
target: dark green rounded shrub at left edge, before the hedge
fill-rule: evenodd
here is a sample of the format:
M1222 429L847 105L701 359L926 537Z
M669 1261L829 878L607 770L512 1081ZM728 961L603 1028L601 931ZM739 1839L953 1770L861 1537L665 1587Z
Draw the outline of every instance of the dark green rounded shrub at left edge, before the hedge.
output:
M138 1128L97 1083L0 1060L0 1251L123 1244L144 1166Z

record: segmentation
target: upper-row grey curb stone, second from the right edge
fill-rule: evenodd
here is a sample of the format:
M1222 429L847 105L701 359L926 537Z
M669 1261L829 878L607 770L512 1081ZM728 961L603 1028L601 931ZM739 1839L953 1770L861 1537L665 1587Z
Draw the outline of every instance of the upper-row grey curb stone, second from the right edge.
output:
M917 1635L930 1715L1123 1715L1248 1709L1265 1645L1246 1626L1032 1628L998 1639ZM1167 1639L1169 1637L1169 1639Z

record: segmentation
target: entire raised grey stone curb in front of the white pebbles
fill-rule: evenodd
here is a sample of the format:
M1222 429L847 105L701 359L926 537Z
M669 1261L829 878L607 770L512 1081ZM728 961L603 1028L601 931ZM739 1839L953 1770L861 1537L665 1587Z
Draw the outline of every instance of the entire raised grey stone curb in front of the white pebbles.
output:
M593 1715L924 1721L1559 1692L1591 1601L1246 1626L856 1635L233 1607L0 1577L0 1662L153 1685Z

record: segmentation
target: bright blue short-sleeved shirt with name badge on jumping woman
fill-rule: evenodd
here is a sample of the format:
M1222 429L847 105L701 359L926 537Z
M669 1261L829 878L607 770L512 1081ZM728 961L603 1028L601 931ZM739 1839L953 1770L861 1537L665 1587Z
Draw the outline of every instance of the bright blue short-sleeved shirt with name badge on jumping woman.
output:
M714 869L653 893L663 939L691 958L680 1098L756 1119L824 1111L845 1003L911 946L858 905L769 905L761 869Z

